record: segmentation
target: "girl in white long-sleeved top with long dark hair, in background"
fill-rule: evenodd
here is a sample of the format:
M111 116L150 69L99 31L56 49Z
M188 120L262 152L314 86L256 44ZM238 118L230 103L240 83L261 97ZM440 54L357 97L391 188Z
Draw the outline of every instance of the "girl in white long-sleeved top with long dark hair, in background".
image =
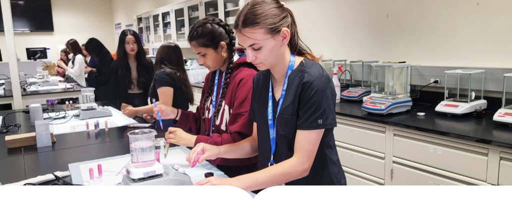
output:
M86 74L84 70L87 63L80 44L78 44L76 39L72 38L66 43L66 48L70 53L68 56L68 65L66 66L66 64L61 60L57 60L57 65L62 69L65 69L66 74L71 76L78 85L86 87Z

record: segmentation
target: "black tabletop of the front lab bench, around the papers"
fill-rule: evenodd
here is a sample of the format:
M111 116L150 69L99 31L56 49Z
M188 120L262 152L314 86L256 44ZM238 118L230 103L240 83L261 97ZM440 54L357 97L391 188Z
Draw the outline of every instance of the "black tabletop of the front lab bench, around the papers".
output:
M108 102L96 102L99 106L111 106ZM60 106L62 107L62 106ZM65 106L64 106L65 107ZM23 110L0 111L0 116ZM5 143L6 135L35 132L31 126L29 115L13 113L7 116L7 123L20 123L22 126L12 129L7 134L0 134L0 182L3 184L18 182L39 175L56 171L67 171L68 164L105 158L130 153L127 133L137 128L127 126L109 128L109 131L99 130L98 133L74 132L55 135L56 142L52 147L37 148L27 146L8 149ZM165 132L157 131L156 138L162 138ZM65 178L71 180L71 177Z

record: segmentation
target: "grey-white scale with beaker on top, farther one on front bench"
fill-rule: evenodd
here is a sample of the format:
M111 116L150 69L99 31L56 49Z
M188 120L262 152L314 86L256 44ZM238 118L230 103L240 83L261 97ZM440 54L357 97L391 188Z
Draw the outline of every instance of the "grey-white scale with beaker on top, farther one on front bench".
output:
M90 119L99 117L112 116L112 111L109 109L98 107L95 102L94 88L83 88L82 93L82 104L80 104L80 110L75 113L78 119Z

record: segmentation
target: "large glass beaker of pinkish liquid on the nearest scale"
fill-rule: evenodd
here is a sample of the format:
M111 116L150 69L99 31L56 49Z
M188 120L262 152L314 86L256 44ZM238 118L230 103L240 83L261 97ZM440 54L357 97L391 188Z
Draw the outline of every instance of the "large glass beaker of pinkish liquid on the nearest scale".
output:
M133 167L147 168L155 164L156 134L157 132L151 129L135 130L128 133Z

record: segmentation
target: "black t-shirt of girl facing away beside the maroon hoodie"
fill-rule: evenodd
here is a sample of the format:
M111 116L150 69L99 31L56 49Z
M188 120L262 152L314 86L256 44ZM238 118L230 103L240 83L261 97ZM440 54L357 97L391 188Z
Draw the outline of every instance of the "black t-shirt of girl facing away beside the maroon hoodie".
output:
M188 110L188 99L185 97L185 92L183 91L183 87L178 85L174 76L168 72L163 70L158 71L155 75L155 83L150 91L150 101L153 102L153 98L155 101L159 101L158 98L158 88L160 87L170 87L174 89L173 96L173 107L177 109L181 109L184 111Z

